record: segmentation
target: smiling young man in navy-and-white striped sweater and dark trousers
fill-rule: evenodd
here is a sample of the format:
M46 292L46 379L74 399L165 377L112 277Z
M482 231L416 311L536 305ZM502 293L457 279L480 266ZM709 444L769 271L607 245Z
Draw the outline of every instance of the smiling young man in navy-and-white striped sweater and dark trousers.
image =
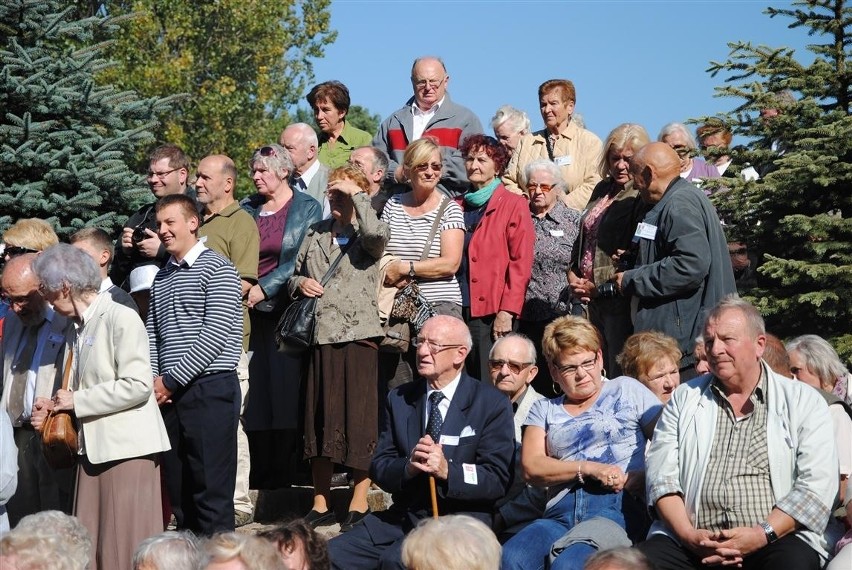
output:
M225 257L198 241L191 198L165 196L155 210L171 255L154 279L146 321L154 395L172 444L163 456L166 486L179 529L233 531L240 279Z

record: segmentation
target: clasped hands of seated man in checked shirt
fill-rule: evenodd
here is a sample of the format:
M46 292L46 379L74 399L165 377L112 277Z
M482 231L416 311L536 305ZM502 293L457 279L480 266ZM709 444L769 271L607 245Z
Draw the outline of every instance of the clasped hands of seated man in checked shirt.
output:
M746 556L769 543L759 526L741 526L718 532L693 529L689 536L680 538L707 566L742 567Z

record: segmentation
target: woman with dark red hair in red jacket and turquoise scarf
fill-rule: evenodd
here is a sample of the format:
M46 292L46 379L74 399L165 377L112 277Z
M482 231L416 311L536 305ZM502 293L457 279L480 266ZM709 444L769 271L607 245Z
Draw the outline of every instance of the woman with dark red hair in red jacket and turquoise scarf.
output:
M493 137L472 135L462 141L471 189L459 199L465 237L458 273L465 321L473 337L466 369L488 377L488 353L495 339L513 330L530 280L535 234L523 196L503 187L509 163L505 147Z

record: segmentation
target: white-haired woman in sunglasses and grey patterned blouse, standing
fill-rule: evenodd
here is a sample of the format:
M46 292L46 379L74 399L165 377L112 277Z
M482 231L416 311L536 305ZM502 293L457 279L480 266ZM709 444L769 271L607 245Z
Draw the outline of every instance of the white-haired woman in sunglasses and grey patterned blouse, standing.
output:
M549 160L535 160L524 169L524 180L535 244L530 283L524 298L518 330L536 346L541 346L544 327L556 317L568 314L571 291L566 277L571 252L577 239L580 212L562 201L565 181L559 167ZM539 374L535 389L556 396L544 355L539 351Z

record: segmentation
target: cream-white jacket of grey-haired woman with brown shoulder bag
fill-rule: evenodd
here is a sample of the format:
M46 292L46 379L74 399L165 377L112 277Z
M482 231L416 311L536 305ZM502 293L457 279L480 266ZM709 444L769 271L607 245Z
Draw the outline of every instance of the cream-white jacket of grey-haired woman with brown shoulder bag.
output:
M132 309L98 295L72 329L77 346L71 386L82 427L81 448L92 463L142 457L170 449L154 398L145 325Z

